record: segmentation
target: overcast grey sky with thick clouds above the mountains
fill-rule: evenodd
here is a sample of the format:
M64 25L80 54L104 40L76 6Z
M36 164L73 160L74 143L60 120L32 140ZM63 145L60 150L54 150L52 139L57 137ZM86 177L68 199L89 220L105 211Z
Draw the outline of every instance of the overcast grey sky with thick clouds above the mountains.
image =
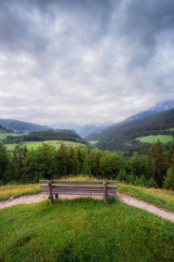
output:
M174 99L173 0L0 4L0 118L118 122Z

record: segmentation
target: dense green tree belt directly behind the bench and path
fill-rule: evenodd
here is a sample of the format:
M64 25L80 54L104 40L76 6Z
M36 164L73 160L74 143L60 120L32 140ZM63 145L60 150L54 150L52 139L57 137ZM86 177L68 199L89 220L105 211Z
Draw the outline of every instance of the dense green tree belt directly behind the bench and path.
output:
M36 183L39 179L61 179L77 174L174 190L174 143L170 150L164 151L162 143L157 141L147 155L134 152L131 157L124 157L96 148L66 147L64 143L58 149L43 143L35 150L24 147L10 154L0 142L1 184Z

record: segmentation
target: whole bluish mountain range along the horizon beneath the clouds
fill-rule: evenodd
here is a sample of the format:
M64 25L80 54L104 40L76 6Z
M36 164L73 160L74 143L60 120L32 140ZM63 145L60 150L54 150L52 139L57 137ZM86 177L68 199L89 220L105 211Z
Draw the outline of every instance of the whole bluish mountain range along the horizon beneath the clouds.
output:
M19 131L29 133L32 131L42 131L50 129L75 130L80 137L85 140L98 141L97 146L102 149L120 150L125 145L132 145L132 139L164 130L164 128L174 127L173 111L174 100L162 101L153 105L151 108L138 112L128 117L120 123L92 123L79 125L78 123L54 123L52 125L38 125L15 119L0 119L0 132ZM171 114L163 114L171 111ZM162 115L161 115L162 114ZM159 118L158 118L159 116ZM168 119L168 120L167 120ZM149 127L149 123L151 126ZM135 143L135 141L133 142Z

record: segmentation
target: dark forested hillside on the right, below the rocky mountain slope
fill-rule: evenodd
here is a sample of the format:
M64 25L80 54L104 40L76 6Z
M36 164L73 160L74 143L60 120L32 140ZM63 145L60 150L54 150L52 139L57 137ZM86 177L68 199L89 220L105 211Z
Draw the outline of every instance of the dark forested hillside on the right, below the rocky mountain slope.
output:
M174 109L155 116L122 121L98 133L86 137L87 141L98 141L96 146L107 150L137 150L149 148L148 143L140 143L135 139L150 134L173 134L169 128L174 127Z

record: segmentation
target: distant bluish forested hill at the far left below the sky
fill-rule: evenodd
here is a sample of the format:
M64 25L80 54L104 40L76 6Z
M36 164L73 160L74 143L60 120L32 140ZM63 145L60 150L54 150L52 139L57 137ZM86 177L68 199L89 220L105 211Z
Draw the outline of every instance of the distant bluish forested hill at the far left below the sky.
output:
M45 125L38 125L36 123L29 123L24 121L19 121L15 119L0 119L0 125L10 128L12 130L17 130L20 132L31 132L49 129Z

